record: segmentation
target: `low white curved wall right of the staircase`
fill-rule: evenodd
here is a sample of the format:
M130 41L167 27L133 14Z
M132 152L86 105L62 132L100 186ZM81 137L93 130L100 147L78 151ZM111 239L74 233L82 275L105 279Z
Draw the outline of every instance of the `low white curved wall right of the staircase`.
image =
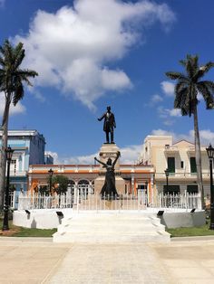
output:
M199 227L206 223L206 214L204 211L190 212L167 212L160 216L160 223L167 228L180 227Z

